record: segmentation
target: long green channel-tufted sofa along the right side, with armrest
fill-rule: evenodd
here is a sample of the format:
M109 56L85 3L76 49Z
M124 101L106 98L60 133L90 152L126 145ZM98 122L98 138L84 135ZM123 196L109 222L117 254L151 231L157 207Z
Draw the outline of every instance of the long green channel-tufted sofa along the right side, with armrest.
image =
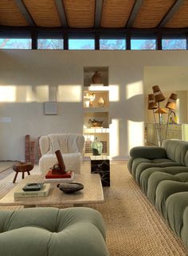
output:
M136 146L127 163L135 181L188 248L188 142Z

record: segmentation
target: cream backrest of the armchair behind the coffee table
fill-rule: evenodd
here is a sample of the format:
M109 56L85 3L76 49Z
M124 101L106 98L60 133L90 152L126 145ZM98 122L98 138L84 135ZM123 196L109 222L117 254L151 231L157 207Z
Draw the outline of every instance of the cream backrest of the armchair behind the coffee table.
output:
M82 134L49 134L39 139L41 154L54 154L61 150L63 154L84 152L84 135Z

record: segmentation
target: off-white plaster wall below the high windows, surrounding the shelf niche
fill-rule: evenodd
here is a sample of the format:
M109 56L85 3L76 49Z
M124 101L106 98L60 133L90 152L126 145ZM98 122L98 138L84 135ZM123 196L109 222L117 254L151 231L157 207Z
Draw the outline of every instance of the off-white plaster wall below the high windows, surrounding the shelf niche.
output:
M82 133L84 66L109 67L110 152L113 158L127 158L131 146L144 142L144 67L188 66L187 51L1 50L0 59L0 86L31 86L33 94L40 86L64 86L57 95L57 116L44 115L42 102L55 97L48 91L23 102L18 90L18 102L1 103L0 117L10 117L11 122L0 122L0 160L24 159L25 134L37 138L57 132ZM67 92L66 86L74 86L76 94Z

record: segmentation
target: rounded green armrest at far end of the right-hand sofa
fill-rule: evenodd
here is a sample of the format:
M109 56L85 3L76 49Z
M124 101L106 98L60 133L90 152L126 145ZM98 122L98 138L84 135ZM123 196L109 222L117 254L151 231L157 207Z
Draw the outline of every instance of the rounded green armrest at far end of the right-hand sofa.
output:
M166 150L159 146L135 146L130 150L131 158L166 158Z

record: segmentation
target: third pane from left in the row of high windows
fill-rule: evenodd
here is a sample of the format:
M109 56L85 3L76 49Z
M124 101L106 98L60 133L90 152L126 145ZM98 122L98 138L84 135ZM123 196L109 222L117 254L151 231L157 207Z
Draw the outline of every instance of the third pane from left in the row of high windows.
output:
M69 50L95 50L95 40L69 39Z

